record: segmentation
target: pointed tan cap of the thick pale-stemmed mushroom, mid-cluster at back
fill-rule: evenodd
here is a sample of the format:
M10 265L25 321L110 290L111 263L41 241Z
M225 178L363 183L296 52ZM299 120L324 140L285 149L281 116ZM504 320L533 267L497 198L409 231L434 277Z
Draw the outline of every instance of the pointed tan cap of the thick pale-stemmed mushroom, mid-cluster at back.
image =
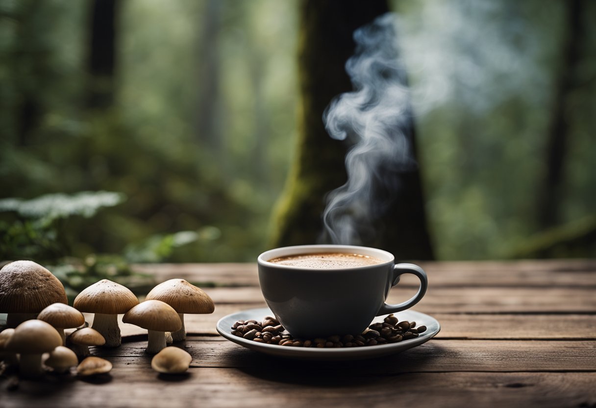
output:
M102 279L75 298L73 306L85 313L121 314L139 304L139 299L126 286Z

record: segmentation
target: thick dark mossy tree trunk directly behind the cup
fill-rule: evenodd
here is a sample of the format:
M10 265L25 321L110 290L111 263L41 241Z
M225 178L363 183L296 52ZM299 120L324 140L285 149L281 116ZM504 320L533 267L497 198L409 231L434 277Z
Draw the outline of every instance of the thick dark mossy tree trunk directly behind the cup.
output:
M354 30L387 11L386 0L300 3L296 156L274 215L272 247L312 244L321 236L325 196L346 182L344 156L350 147L327 134L322 115L334 97L352 91L344 65L355 50ZM398 258L432 259L420 174L398 177L398 197L386 214L379 215L377 237L364 245L386 249Z

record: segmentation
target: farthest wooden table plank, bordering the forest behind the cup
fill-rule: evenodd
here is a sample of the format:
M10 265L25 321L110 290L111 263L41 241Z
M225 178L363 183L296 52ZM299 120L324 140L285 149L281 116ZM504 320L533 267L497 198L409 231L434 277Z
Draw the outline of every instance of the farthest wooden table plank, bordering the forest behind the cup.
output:
M420 262L433 287L596 286L596 261ZM139 264L134 269L157 282L173 278L224 286L258 286L257 266L247 264ZM407 281L407 282L406 282ZM403 279L401 285L414 285Z

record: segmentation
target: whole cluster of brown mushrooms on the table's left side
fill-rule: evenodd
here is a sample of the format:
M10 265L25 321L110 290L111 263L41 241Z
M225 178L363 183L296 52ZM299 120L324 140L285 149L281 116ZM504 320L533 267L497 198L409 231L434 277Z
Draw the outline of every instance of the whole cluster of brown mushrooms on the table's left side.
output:
M50 271L32 261L14 261L0 269L0 313L8 313L0 332L0 360L18 365L30 378L44 372L67 373L77 366L80 376L107 373L110 361L90 356L89 346L119 347L117 315L124 323L147 329L147 353L156 354L151 367L160 373L183 373L192 361L186 351L167 347L186 338L184 314L213 313L212 299L184 279L157 285L140 302L128 288L104 279L89 286L68 305L64 287ZM84 313L94 313L91 327ZM76 329L69 336L65 329ZM80 363L79 363L80 360Z

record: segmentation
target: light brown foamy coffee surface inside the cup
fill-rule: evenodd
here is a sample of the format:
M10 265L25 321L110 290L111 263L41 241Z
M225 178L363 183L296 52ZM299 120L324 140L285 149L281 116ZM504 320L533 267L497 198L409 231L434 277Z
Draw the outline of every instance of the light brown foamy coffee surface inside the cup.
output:
M354 268L383 263L381 259L374 258L374 256L344 254L342 252L280 256L279 258L269 259L268 262L312 269Z

